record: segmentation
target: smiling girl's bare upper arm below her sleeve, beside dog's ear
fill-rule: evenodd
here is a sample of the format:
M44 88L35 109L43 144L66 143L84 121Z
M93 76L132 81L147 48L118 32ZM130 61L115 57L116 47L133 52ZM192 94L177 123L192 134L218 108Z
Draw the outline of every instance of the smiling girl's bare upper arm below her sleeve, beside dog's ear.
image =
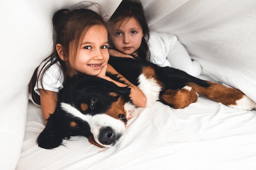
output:
M39 89L39 91L43 120L46 124L50 114L54 113L57 107L58 93L53 91L47 91L44 89Z

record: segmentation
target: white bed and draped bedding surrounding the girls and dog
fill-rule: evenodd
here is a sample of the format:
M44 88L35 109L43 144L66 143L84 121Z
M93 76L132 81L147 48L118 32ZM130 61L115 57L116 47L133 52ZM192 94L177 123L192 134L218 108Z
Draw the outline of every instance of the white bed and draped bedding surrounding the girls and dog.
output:
M79 0L1 2L0 167L3 170L255 170L256 110L237 110L200 96L183 109L155 102L128 121L115 148L85 137L45 150L45 127L27 84L51 52L51 18ZM98 0L111 15L121 0ZM255 0L141 0L150 29L177 35L203 79L239 88L256 101Z

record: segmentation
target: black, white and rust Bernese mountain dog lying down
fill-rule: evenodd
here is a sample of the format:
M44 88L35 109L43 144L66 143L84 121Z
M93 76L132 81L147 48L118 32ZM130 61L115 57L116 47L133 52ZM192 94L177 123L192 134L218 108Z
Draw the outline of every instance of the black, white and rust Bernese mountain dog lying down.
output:
M256 103L236 88L193 77L184 71L132 58L110 57L109 64L147 97L147 106L160 101L184 108L203 95L231 108L252 110ZM108 74L118 80L116 75ZM143 110L132 104L130 88L100 77L75 75L59 92L58 106L37 139L41 148L60 146L63 139L85 136L91 144L111 148L120 141L129 114Z

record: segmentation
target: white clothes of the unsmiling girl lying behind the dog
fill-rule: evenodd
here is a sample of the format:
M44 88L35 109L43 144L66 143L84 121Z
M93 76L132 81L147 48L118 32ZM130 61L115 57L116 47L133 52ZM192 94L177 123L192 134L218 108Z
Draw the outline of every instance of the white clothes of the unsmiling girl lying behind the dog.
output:
M177 68L195 77L202 73L200 63L191 60L188 51L175 35L151 31L148 46L150 62L162 67Z

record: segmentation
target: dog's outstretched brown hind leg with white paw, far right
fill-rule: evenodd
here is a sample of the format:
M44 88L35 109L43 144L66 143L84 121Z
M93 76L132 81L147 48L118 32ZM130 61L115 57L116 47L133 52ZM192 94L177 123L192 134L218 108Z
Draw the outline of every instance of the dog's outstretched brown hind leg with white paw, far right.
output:
M207 83L210 85L209 87L202 87L195 83L189 83L188 86L191 86L197 93L231 108L242 110L252 110L256 108L256 103L240 90L214 82Z

